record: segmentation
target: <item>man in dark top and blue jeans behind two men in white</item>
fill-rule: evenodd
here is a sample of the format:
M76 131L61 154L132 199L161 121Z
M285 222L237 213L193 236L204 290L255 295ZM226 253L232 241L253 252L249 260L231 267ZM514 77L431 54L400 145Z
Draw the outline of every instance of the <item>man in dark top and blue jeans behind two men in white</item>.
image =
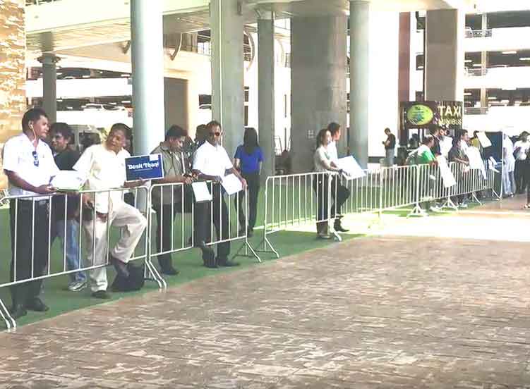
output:
M73 131L66 123L54 123L51 127L51 144L56 165L61 171L71 171L79 159L79 152L68 147L73 139ZM64 207L66 202L66 215ZM79 257L79 197L59 195L52 198L53 226L50 245L56 237L61 247L66 247L68 270L80 268ZM66 226L65 226L66 225ZM66 235L65 235L66 232ZM87 286L87 277L83 271L70 273L68 290L78 292Z

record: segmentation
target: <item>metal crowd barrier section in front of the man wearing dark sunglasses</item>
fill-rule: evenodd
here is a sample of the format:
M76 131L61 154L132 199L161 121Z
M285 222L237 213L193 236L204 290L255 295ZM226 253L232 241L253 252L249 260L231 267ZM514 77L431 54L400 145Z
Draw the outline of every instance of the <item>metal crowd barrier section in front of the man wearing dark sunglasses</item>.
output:
M212 192L211 185L220 185L208 183L210 186L210 193ZM186 190L188 192L186 193ZM236 252L234 257L238 257L242 249L245 250L243 256L253 257L259 262L261 261L260 257L254 251L248 242L248 231L246 226L248 226L248 190L244 195L244 204L240 204L239 198L241 192L238 192L234 195L227 195L224 193L225 201L227 203L227 218L228 218L228 231L223 231L222 225L222 212L220 213L220 230L219 236L215 237L214 224L212 220L214 218L214 207L213 204L210 204L210 237L205 244L207 246L217 245L222 242L234 242L238 240L243 240L243 245ZM163 254L172 254L176 252L181 252L188 249L193 249L195 247L195 228L194 228L194 219L195 219L195 202L193 201L193 195L191 192L191 185L185 185L183 183L169 183L169 184L155 184L151 185L149 189L149 199L151 202L151 208L153 211L149 214L149 220L147 224L148 229L148 242L150 244L147 246L148 254L147 258L149 259L149 266L151 267L151 272L155 275L159 283L165 288L167 283L164 278L157 271L157 268L152 264L153 257L159 257ZM169 202L166 204L166 209L164 210L164 201ZM212 201L215 201L212 200ZM219 197L219 209L221 209L222 199ZM235 202L236 211L232 211L232 204ZM160 206L162 204L162 206ZM242 210L240 206L244 207L244 218L245 222L242 226L239 221L239 212ZM159 208L159 222L161 224L158 230L158 221L153 220L155 217L153 214L156 214L154 209ZM169 228L171 228L170 233L170 243L164 245L164 220L165 218L173 218L173 221L170 223ZM235 220L234 220L235 219ZM167 228L167 225L165 226ZM154 231L153 231L154 230ZM158 230L158 231L157 231ZM155 239L153 239L153 235ZM223 237L225 236L225 237ZM167 247L169 246L169 247ZM251 255L248 254L251 253Z

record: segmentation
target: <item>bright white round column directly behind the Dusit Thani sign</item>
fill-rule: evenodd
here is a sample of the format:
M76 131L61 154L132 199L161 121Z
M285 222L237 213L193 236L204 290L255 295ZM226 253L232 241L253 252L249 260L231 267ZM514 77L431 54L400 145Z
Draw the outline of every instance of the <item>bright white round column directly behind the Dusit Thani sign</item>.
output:
M162 1L131 0L133 146L149 154L164 140Z

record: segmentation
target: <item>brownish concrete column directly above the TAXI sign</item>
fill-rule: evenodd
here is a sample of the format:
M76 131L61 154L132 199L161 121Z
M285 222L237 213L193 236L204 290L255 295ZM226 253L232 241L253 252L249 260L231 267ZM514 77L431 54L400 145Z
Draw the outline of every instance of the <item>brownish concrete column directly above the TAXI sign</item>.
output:
M426 100L464 101L466 16L457 9L427 11Z

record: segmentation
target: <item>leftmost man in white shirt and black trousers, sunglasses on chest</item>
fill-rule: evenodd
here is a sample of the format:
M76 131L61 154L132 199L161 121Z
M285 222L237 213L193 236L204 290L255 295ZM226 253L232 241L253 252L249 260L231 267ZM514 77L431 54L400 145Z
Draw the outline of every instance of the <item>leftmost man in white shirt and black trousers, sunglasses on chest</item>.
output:
M48 135L48 118L42 109L27 111L22 118L22 134L4 145L4 172L9 181L11 221L11 281L44 275L49 267L49 183L59 171L52 150L44 143ZM44 195L44 196L39 196ZM18 319L30 309L47 311L40 300L42 280L19 283L11 287L11 316Z

